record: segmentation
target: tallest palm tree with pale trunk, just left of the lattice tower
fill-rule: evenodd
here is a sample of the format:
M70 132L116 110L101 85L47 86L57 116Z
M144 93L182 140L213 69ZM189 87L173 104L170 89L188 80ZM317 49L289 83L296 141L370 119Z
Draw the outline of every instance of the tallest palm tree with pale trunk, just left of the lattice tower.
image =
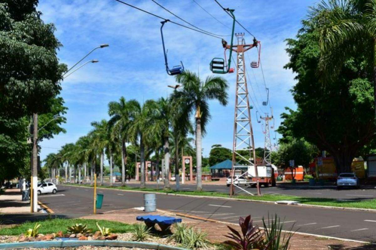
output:
M193 72L186 70L176 76L176 81L182 88L174 91L172 99L174 106L180 109L175 116L177 126L184 127L189 122L189 116L195 114L196 133L196 190L202 190L202 135L206 133L206 125L210 119L209 100L218 100L221 105L227 105L227 81L219 76L209 76L205 81Z

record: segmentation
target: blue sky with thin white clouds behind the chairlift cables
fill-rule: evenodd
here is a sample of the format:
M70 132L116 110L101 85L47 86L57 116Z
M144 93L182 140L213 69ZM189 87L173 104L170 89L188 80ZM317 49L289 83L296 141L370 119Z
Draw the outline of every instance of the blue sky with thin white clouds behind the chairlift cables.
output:
M150 0L124 0L127 3L149 10L164 18L182 22ZM167 9L194 25L217 34L230 34L230 29L217 22L192 0L157 0ZM231 19L214 0L196 0L203 8L225 25ZM294 85L294 75L283 69L288 62L285 52L286 38L294 37L301 27L300 20L306 17L312 0L221 0L224 7L235 9L238 21L262 43L262 65L265 81L270 89L270 103L274 109L276 127L284 107L295 108L289 90ZM58 52L62 63L72 66L92 48L108 43L108 48L97 49L87 60L99 63L87 64L62 82L61 96L68 107L67 133L41 142L41 158L91 130L92 121L108 119L108 103L124 96L127 100L158 99L167 96L174 78L164 70L164 58L159 28L160 19L132 9L114 0L40 0L38 10L45 22L56 26L56 37L64 45ZM236 26L235 32L244 32ZM164 27L165 43L170 65L183 61L186 69L199 72L200 77L211 75L209 62L213 57L223 57L221 41L186 28L167 23ZM246 33L246 42L253 37ZM256 50L247 52L246 63L256 60ZM250 97L261 112L269 112L262 101L266 92L260 69L249 69ZM203 138L203 155L208 156L211 145L222 144L232 148L233 111L235 102L236 74L223 75L229 82L229 104L210 102L212 119ZM253 94L253 91L255 94ZM263 147L264 134L255 118L253 131L256 147ZM273 130L272 130L273 131ZM271 138L274 132L271 133ZM278 136L277 136L278 137ZM274 142L274 141L273 141Z

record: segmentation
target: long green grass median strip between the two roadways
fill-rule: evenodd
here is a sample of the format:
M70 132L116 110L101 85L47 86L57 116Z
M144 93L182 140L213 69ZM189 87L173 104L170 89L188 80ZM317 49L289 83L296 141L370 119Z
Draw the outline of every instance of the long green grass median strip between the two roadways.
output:
M78 184L70 184L74 186L86 186L91 187L90 185L78 185ZM174 190L162 190L161 189L140 189L138 187L128 187L128 186L98 186L100 188L106 189L119 189L119 190L133 190L133 191L146 191L146 192L157 192L157 193L168 193L174 195L194 195L194 196L212 196L212 197L221 197L221 198L230 198L227 193L220 193L220 192L208 192L208 191L174 191ZM320 205L320 206L329 206L329 207L345 207L345 208L362 208L362 209L376 209L376 199L362 199L359 201L354 200L352 198L349 201L346 200L338 200L338 199L329 199L329 198L310 198L310 197L299 197L299 196L292 196L292 195L262 195L262 196L252 196L252 195L235 195L232 198L236 199L245 199L251 201L282 201L282 200L289 200L289 201L297 201L300 204L307 204L307 205Z

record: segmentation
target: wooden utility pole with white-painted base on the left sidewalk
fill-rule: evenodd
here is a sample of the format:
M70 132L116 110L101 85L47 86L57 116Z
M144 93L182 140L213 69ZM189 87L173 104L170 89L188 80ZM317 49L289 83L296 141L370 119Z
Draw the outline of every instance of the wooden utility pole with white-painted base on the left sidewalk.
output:
M30 186L30 212L38 212L38 114L33 114L33 151Z

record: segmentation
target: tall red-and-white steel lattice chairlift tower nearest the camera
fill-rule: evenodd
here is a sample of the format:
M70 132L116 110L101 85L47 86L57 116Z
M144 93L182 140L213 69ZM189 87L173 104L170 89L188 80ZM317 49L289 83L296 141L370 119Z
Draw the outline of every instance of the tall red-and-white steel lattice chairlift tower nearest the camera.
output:
M247 178L254 168L255 177L258 177L256 153L255 153L255 141L253 139L253 128L251 120L251 111L249 105L249 93L247 87L246 78L246 64L244 59L244 52L257 47L258 41L253 40L252 44L246 44L244 40L244 33L237 33L235 36L238 38L237 45L225 45L227 49L237 53L237 81L236 81L236 93L235 93L235 118L234 118L234 130L233 130L233 148L232 148L232 169L231 169L231 186L230 196L234 194L235 187L248 192L247 190L235 185L233 179L235 177L235 171L246 171L242 174ZM244 157L244 151L247 151L247 156ZM243 164L237 163L236 157L239 157ZM257 190L259 194L259 184L257 183Z

